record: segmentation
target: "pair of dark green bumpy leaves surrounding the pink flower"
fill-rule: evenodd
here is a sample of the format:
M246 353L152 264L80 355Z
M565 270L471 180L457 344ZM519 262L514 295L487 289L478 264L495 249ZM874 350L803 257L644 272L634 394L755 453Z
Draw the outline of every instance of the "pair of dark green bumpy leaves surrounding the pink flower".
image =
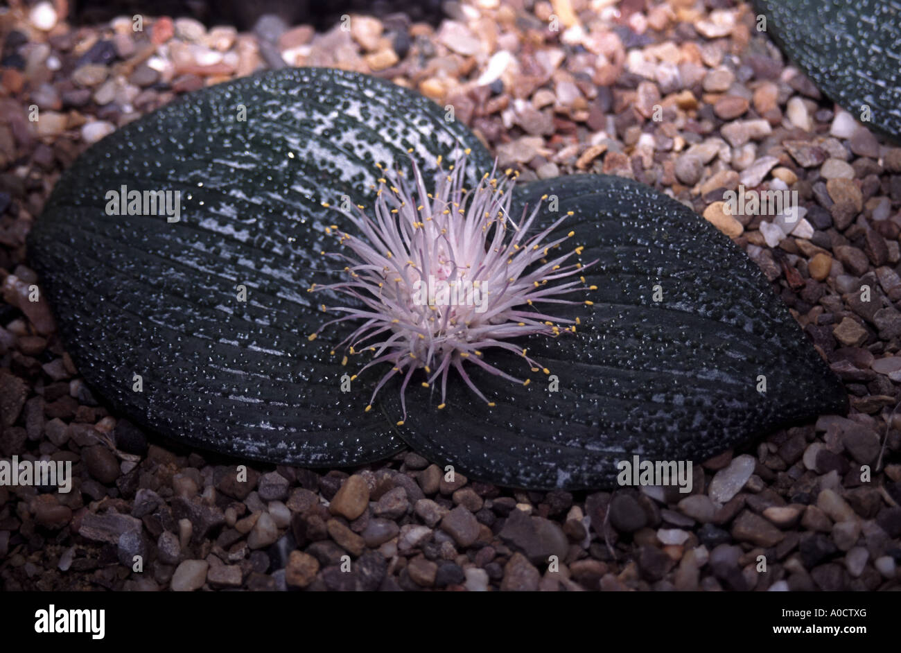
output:
M246 122L234 120L239 105ZM560 230L577 232L583 262L599 259L586 274L594 306L555 311L580 317L578 332L523 340L554 378L512 385L470 366L495 407L452 377L443 411L433 388L411 384L396 426L398 380L364 413L381 372L342 393L355 369L329 353L354 327L306 337L325 319L318 303L345 303L306 292L340 278L319 256L332 247L325 226L350 228L321 202L347 194L371 206L375 163L403 163L411 148L426 169L463 148L473 171L490 168L472 134L423 98L321 69L216 86L88 150L29 241L88 382L136 422L205 449L344 466L406 442L469 476L536 489L611 486L623 458L701 462L847 410L842 384L731 240L647 186L578 176L515 191L518 212L557 195L574 212ZM180 222L107 215L105 193L122 184L181 189ZM543 211L545 223L559 215ZM522 358L492 357L513 376L528 372Z

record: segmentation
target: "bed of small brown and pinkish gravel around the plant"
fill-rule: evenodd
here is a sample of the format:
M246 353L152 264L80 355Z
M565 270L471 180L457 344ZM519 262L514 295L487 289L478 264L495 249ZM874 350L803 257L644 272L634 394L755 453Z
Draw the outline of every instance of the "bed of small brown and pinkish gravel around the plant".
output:
M130 16L72 26L66 5L0 14L0 456L71 461L75 476L68 494L0 485L0 587L899 588L901 148L822 97L750 5L473 0L434 24L268 17L250 32L151 15L141 32ZM451 104L523 178L631 177L692 207L760 266L851 413L696 465L691 494L516 491L412 452L357 469L240 467L137 429L28 301L40 279L25 235L88 144L177 95L285 65ZM796 191L797 219L729 214L740 186Z

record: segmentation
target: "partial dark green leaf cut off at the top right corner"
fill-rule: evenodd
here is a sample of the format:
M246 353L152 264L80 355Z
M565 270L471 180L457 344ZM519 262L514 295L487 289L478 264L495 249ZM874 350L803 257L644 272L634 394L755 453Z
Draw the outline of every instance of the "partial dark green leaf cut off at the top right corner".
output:
M860 120L901 137L901 3L754 0L767 33L817 88Z

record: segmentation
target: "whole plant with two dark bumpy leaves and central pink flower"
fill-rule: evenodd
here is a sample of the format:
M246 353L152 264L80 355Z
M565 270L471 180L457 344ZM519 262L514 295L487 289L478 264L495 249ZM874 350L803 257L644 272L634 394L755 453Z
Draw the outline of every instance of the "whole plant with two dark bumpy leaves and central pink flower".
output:
M684 205L617 177L509 186L423 97L283 69L87 150L29 255L109 404L240 458L352 466L408 445L500 485L601 487L623 458L700 462L847 409L760 270ZM344 265L322 256L336 235ZM414 270L486 282L486 311L410 304ZM343 347L367 343L381 374L350 374Z

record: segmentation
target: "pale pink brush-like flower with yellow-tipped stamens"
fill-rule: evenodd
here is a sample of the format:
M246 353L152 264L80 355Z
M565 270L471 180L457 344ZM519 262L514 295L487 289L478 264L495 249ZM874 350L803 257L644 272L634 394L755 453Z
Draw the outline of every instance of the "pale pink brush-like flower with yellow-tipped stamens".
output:
M516 224L509 215L515 177L509 177L507 171L498 178L493 170L468 192L464 188L465 161L461 157L445 171L439 157L433 193L426 188L415 163L412 183L400 171L379 166L384 176L378 179L372 215L362 206L350 211L335 207L359 234L341 231L336 225L325 230L352 253L322 252L327 258L341 259L348 278L326 286L314 285L309 292L339 291L356 299L358 305L322 304L323 312L343 314L325 322L309 340L315 340L331 324L360 322L339 345L346 347L350 356L370 356L350 379L356 379L368 367L390 365L366 411L371 410L387 381L400 375L401 408L406 419L405 391L417 369L424 372L424 387L440 380L438 408L444 408L451 367L472 392L494 406L473 383L463 363L529 385L530 379L510 376L484 359L488 349L500 348L522 356L532 372L550 374L551 370L539 366L526 349L510 340L534 334L556 338L575 333L578 317L555 318L542 313L536 304L582 304L562 295L596 289L585 286L585 277L552 283L576 277L587 267L578 261L568 262L573 254L582 253L582 247L556 255L561 243L575 235L573 231L543 242L572 212L528 236L541 203L527 216L523 212L523 219ZM347 354L342 354L342 365L348 363ZM403 423L401 420L398 425Z

